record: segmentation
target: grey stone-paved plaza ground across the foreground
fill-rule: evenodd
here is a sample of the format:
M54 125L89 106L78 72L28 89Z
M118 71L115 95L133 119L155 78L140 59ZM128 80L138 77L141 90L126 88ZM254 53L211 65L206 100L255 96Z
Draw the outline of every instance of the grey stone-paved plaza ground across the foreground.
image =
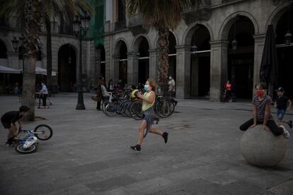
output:
M88 93L86 110L75 110L76 93L51 102L35 110L47 120L24 125L52 126L52 138L40 141L36 153L4 147L0 127L0 194L293 194L293 134L275 168L254 167L241 155L248 100L179 100L176 113L155 125L169 132L168 143L149 134L141 153L127 148L137 141L138 121L97 111ZM1 115L19 106L17 97L0 96Z

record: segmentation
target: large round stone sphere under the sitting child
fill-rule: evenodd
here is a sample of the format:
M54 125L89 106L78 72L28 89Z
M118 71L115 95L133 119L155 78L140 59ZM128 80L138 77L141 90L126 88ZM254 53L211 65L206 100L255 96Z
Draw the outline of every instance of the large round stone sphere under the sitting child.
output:
M251 165L273 167L285 157L287 141L282 135L275 136L271 131L263 130L263 125L258 125L245 131L240 149Z

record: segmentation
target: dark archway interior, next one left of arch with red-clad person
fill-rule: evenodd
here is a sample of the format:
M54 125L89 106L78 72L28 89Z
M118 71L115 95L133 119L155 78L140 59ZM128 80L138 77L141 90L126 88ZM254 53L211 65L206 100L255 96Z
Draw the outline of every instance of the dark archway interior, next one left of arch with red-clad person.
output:
M209 30L203 25L197 25L195 28L196 30L191 40L191 46L195 45L198 52L209 51ZM209 95L210 52L192 54L191 60L190 95L192 97Z

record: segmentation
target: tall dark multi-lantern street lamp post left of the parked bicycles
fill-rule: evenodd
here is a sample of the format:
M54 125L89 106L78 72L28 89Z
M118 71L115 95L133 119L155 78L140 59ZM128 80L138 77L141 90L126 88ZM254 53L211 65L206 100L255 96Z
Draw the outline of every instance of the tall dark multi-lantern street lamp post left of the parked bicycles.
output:
M82 86L82 52L81 52L81 43L83 36L86 35L86 32L89 28L89 21L91 20L90 16L81 16L76 17L76 20L73 22L73 30L76 37L79 37L79 85L78 85L78 100L76 105L76 110L85 110L84 106L84 93Z

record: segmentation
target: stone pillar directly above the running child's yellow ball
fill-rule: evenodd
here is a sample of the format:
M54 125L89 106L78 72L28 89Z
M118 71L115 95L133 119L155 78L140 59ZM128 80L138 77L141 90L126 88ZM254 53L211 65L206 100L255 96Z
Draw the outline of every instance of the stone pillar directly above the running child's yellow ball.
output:
M137 85L138 83L138 61L139 54L137 52L127 53L127 84Z

